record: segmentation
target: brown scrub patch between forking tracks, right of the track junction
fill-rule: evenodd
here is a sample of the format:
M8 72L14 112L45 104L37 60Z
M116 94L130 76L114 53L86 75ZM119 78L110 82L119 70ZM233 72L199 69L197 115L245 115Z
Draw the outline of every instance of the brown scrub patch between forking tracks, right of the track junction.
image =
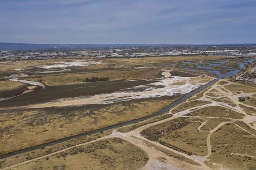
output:
M206 139L208 133L198 132L200 122L190 118L177 118L141 131L141 135L149 140L157 141L171 149L189 155L206 155Z

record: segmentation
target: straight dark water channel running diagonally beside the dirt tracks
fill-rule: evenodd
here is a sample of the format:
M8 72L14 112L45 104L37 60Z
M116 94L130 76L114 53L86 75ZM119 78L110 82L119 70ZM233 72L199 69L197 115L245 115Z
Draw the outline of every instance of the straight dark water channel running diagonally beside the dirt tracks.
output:
M254 60L252 60L252 62L253 61ZM246 62L246 63L248 63L248 62ZM221 64L223 64L223 63L221 63ZM213 70L203 70L203 71L210 72L210 71L213 71ZM14 156L14 155L17 155L17 154L20 154L20 153L26 153L26 152L29 152L29 151L37 150L37 149L40 149L42 147L58 144L58 143L61 143L61 142L64 142L64 141L67 141L67 140L70 140L70 139L73 139L73 138L77 138L77 137L81 137L81 136L88 136L88 135L92 135L92 134L95 134L95 133L98 133L98 132L102 132L102 131L105 131L105 130L109 130L109 129L113 129L113 128L118 128L118 127L121 127L121 126L124 126L124 125L129 125L129 124L136 123L136 122L139 122L139 121L142 121L142 120L154 118L156 116L162 115L166 110L169 110L170 108L176 106L177 104L187 100L188 98L190 98L191 96L195 95L196 93L204 90L208 86L213 85L218 80L220 80L220 79L222 79L224 77L233 76L233 75L237 74L239 71L240 70L238 70L238 69L232 69L231 71L227 72L226 74L220 74L219 71L215 72L217 77L218 77L217 79L215 79L215 80L211 81L210 83L208 83L206 85L203 85L203 86L197 88L196 90L194 90L194 91L184 95L182 98L180 98L176 102L173 102L173 103L169 104L168 106L166 106L165 108L161 109L160 111L158 111L158 113L156 113L154 115L146 116L146 117L139 118L139 119L130 120L130 121L127 121L127 122L115 124L115 125L112 125L112 126L108 126L108 127L105 127L105 128L101 128L101 129L98 129L98 130L91 131L91 132L82 133L82 134L75 135L75 136L69 136L69 137L62 138L62 139L59 139L59 140L55 140L55 141L52 141L52 142L40 144L38 146L34 146L34 147L31 147L31 148L26 148L26 149L22 149L22 150L19 150L19 151L15 151L15 152L12 152L12 153L3 154L3 155L0 155L0 159L6 158L6 157L10 157L10 156ZM25 83L25 82L23 82L23 83ZM36 82L36 83L38 83L38 82Z

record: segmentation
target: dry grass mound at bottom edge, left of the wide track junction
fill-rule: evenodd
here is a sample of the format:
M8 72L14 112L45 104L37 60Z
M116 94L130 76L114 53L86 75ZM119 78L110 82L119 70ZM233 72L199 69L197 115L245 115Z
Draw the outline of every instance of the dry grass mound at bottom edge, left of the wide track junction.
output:
M11 170L136 170L148 160L133 144L110 138L12 168Z

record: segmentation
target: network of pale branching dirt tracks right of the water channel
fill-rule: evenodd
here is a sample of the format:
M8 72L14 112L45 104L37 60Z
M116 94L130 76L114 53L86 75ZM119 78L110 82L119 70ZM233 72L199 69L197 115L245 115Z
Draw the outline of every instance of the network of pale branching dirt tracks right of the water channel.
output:
M167 76L167 74L166 74ZM225 80L226 81L226 80ZM218 81L219 82L219 81ZM196 106L196 107L193 107L193 108L190 108L190 109L187 109L187 110L184 110L184 111L181 111L181 112L178 112L176 114L173 114L173 117L170 117L170 118L167 118L167 119L163 119L163 120L160 120L160 121L157 121L157 122L153 122L153 123L149 123L149 124L146 124L146 125L143 125L143 126L140 126L138 127L137 129L134 129L128 133L120 133L120 132L117 132L117 129L115 129L113 131L113 133L109 136L104 136L104 137L101 137L101 138L98 138L96 140L93 140L93 141L90 141L90 142L86 142L86 143L83 143L83 144L79 144L79 145L76 145L76 146L73 146L73 147L70 147L70 148L66 148L66 149L63 149L63 150L60 150L58 152L55 152L55 153L51 153L51 154L48 154L48 155L45 155L45 156L41 156L39 158L36 158L36 159L32 159L32 160L28 160L28 161L25 161L25 162L22 162L20 164L16 164L16 165L12 165L11 167L16 167L16 166L19 166L19 165L22 165L22 164L25 164L25 163L29 163L29 162L32 162L32 161L35 161L35 160L38 160L38 159L41 159L41 158L45 158L47 156L51 156L53 154L56 154L56 153L60 153L60 152L63 152L63 151L67 151L69 149L72 149L74 147L77 147L77 146L82 146L82 145L87 145L87 144L90 144L90 143L93 143L93 142L96 142L96 141L99 141L99 140L102 140L102 139L107 139L107 138L110 138L110 137L119 137L123 140L126 140L136 146L138 146L139 148L141 148L142 150L144 150L148 156L149 156L149 161L147 162L147 164L145 165L145 167L143 168L143 170L149 170L149 169L152 169L152 167L154 167L155 164L159 163L158 161L158 157L161 156L161 157L164 157L166 158L167 160L167 163L168 164L171 164L173 166L173 169L184 169L184 170L210 170L210 168L208 166L205 165L204 161L207 160L207 158L209 156L211 156L211 135L216 132L219 128L221 128L223 125L225 125L226 123L233 123L233 121L235 120L242 120L244 121L248 126L250 126L251 128L255 129L256 130L256 127L249 124L249 121L247 120L248 118L248 115L245 113L245 111L239 107L239 104L243 104L242 102L239 102L237 99L238 97L240 96L239 94L238 95L233 95L232 92L226 92L226 91L223 91L221 88L223 88L224 85L218 85L218 82L215 83L214 85L212 85L208 90L206 90L203 94L202 97L200 97L199 99L197 99L198 101L209 101L211 102L210 104L205 104L205 105L201 105L201 106ZM229 82L229 84L231 84L234 82ZM217 93L221 96L225 96L225 97L228 97L233 103L236 104L236 106L230 106L226 103L223 103L223 102L216 102L216 101L213 101L211 98L209 98L209 96L207 96L207 93L211 90L217 90ZM253 93L253 94L256 94L256 93ZM252 94L243 94L243 95L252 95ZM188 101L186 101L188 102ZM180 103L181 104L181 103ZM245 104L244 104L245 105ZM225 121L225 122L221 122L219 123L214 129L212 129L211 131L209 131L208 133L208 136L207 136L207 148L208 148L208 153L207 155L205 156L195 156L195 155L187 155L185 153L180 153L176 150L173 150L173 149L170 149L166 146L163 146L161 144L159 144L158 142L156 141L151 141L143 136L140 135L140 132L144 129L147 129L149 127L152 127L154 125L158 125L160 123L163 123L163 122L167 122L167 121L170 121L170 120L173 120L173 119L177 119L179 117L189 117L189 116L186 116L186 114L188 113L191 113L195 110L198 110L198 109L201 109L201 108L204 108L204 107L209 107L209 106L222 106L222 107L225 107L225 108L228 108L228 109L232 109L236 112L239 112L241 114L243 114L245 117L243 119L230 119L230 121ZM178 107L178 105L176 106ZM174 107L174 108L176 108ZM254 108L253 106L250 106L252 108ZM172 108L169 112L169 114L172 114L172 110L174 109ZM200 117L192 117L192 118L200 118ZM205 117L204 119L218 119L218 117ZM199 121L201 124L197 127L197 130L198 131L201 131L201 128L207 123L207 120L201 122ZM237 124L236 124L237 125ZM246 131L248 132L247 130L245 130L244 128L240 127L237 125L238 128L240 128L241 130L243 131ZM204 131L203 131L204 132ZM250 133L250 132L248 132ZM254 134L250 133L251 135L255 136ZM194 166L194 165L190 165L188 163L185 163L183 161L179 161L175 158L172 158L164 153L161 153L159 152L158 150L148 146L145 142L143 141L147 141L149 143L152 143L156 146L159 146L159 147L162 147L163 149L166 149L166 150L169 150L169 151L172 151L174 153L177 153L177 154L180 154L186 158L189 158L191 160L194 160L195 162L197 162L198 164L200 164L201 166L198 167L198 166ZM7 167L7 168L4 168L5 169L9 169L11 167Z

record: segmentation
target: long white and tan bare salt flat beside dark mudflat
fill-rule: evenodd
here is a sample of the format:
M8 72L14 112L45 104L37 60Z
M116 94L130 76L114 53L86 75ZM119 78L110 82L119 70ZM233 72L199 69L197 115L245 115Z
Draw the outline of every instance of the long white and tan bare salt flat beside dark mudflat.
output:
M199 86L205 85L213 80L212 77L178 77L173 76L169 72L170 70L165 70L162 75L164 78L157 79L159 82L151 83L148 85L139 85L129 89L131 92L114 92L109 94L98 94L94 96L80 96L75 98L62 98L55 101L50 101L46 103L20 106L19 108L44 108L44 107L61 107L61 106L71 106L71 105L87 105L87 104L109 104L114 102L130 101L133 99L142 98L155 98L161 96L173 96L176 94L186 94ZM23 83L25 83L23 81ZM38 82L35 82L38 83ZM152 86L162 86L162 87L152 87ZM146 88L143 91L137 91L136 89ZM125 91L125 89L124 89ZM16 108L16 107L13 107ZM1 110L6 110L6 108L0 108ZM10 108L7 108L10 109Z

